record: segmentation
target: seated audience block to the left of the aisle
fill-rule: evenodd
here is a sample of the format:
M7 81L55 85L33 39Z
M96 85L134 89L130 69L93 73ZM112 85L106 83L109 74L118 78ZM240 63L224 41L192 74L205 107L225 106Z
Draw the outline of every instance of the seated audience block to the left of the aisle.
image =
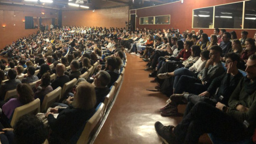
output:
M38 31L6 45L1 54L7 57L8 62L4 59L0 61L3 65L0 70L0 106L1 115L6 117L1 118L4 127L10 127L15 108L37 98L42 105L46 94L59 86L63 88L65 83L76 78L77 85L63 97L66 102L54 103L55 106L67 108L53 108L46 114L52 130L50 143L69 142L95 113L95 108L104 101L121 74L126 56L121 45L123 41L118 41L116 36L123 32L125 30L117 28L63 27ZM99 65L91 70L89 78L80 78L96 62ZM51 81L54 74L56 78ZM5 99L5 93L15 89L18 98ZM60 114L54 118L53 113ZM83 118L77 119L77 116ZM63 127L66 130L63 131ZM1 139L1 142L5 141Z

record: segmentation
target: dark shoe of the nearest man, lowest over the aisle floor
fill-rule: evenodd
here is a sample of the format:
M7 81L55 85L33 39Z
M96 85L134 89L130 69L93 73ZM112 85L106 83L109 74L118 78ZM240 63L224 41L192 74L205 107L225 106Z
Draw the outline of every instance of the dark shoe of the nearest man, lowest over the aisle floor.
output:
M164 126L160 122L156 122L155 123L156 134L166 144L177 143L175 135L174 135L174 133L172 131L173 127L174 127L173 125Z

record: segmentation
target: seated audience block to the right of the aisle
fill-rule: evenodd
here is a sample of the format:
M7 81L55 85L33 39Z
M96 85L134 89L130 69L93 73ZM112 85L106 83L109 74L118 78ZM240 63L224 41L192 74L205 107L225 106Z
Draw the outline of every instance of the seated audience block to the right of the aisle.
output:
M197 34L184 31L182 35L147 32L146 41L129 34L123 41L130 41L126 51L143 58L148 62L145 70L153 71L150 82L157 86L150 91L170 97L159 109L161 115L181 116L178 105L187 104L176 127L155 123L163 142L198 143L204 133L223 141L252 141L256 137L256 33L248 38L248 32L242 31L238 39L235 31L218 28L210 37L202 29Z

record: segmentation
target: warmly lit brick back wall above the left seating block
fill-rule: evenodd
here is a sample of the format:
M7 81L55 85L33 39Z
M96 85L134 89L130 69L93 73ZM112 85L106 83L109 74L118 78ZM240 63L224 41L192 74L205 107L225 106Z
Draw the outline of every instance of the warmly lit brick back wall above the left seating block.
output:
M129 20L129 6L111 9L62 11L62 26L125 27Z

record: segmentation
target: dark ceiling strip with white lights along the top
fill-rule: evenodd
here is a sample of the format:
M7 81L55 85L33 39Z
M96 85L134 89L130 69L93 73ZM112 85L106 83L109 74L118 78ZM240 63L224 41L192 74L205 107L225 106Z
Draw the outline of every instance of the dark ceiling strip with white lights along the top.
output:
M84 6L89 6L93 9L106 9L109 7L118 7L129 5L130 9L138 9L141 7L154 6L159 4L171 3L179 0L52 0L53 3L28 2L24 0L1 0L0 4L5 5L28 5L37 7L47 7L58 10L86 10L82 7L69 6L68 3L76 3L76 1L84 2Z

